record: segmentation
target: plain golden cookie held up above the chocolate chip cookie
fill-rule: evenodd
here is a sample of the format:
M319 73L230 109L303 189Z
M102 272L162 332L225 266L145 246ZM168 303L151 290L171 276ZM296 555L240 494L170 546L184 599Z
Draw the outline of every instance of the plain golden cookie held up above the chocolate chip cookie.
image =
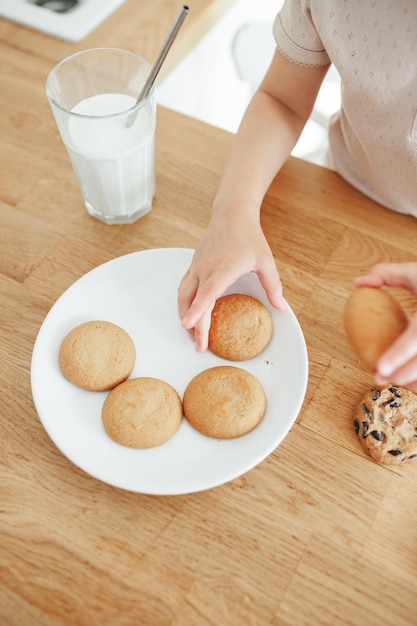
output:
M360 287L346 301L344 322L353 351L374 372L379 357L405 330L408 319L387 291Z

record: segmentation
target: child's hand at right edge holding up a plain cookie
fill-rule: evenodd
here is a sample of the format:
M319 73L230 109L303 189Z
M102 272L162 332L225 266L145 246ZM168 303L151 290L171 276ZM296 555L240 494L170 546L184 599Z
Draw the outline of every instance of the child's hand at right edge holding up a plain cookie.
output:
M366 276L356 278L354 284L356 287L403 287L417 295L417 263L380 263ZM395 383L417 390L417 314L380 357L375 382Z

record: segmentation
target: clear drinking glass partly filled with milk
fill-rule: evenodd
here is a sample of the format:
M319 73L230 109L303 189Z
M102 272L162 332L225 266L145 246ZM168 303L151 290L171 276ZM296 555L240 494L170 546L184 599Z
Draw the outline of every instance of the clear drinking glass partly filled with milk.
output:
M155 86L136 104L150 72L116 48L77 52L50 72L46 93L87 211L106 224L131 224L155 193Z

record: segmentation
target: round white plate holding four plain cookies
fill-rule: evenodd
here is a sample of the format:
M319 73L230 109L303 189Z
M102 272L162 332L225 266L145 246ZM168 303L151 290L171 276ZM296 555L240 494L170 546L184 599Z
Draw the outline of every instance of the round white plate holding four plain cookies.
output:
M74 326L94 319L118 324L136 345L131 376L161 378L181 397L198 372L233 365L208 351L197 353L180 326L177 289L192 254L193 250L180 248L146 250L100 265L62 294L35 342L32 393L45 430L75 465L115 487L172 495L237 478L278 446L304 400L308 360L299 323L290 307L272 309L257 277L250 274L228 292L258 298L273 317L273 338L264 352L234 364L254 374L265 389L267 409L259 426L243 437L217 440L199 434L184 419L172 439L149 450L126 448L107 436L101 421L106 392L79 389L59 368L59 346Z

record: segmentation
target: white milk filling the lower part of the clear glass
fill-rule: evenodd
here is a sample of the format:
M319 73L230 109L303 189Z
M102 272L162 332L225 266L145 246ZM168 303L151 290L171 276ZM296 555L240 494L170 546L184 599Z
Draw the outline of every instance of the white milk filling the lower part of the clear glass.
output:
M155 192L155 115L145 104L127 124L135 104L105 93L79 102L68 123L67 150L89 213L109 224L129 223L151 209ZM106 117L107 116L107 117Z

